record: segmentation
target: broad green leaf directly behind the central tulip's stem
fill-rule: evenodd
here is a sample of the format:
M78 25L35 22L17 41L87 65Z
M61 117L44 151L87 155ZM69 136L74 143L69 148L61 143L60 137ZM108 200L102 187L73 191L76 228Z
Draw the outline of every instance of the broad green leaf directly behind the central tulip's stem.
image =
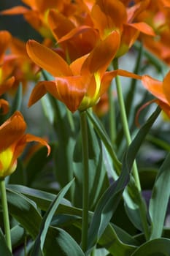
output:
M92 211L99 197L109 186L106 168L104 166L101 141L98 140L93 125L88 120L88 158L89 158L89 209ZM76 177L74 188L74 206L82 207L82 143L78 137L74 148L74 174Z

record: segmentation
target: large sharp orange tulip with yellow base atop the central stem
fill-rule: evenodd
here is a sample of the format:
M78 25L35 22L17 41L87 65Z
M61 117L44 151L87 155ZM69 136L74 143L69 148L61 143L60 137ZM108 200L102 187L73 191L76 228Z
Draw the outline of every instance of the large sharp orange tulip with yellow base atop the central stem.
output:
M98 42L93 50L68 65L58 53L34 40L27 42L30 58L39 67L55 77L53 81L40 81L31 93L28 105L33 105L47 92L61 100L69 110L85 110L96 105L107 90L112 76L105 72L120 45L120 35L113 31L104 41Z

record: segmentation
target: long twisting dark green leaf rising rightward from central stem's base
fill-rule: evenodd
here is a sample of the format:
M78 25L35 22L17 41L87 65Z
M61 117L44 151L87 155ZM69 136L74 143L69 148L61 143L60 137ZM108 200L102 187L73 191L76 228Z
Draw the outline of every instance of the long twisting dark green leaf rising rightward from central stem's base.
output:
M139 129L139 132L132 141L131 145L128 147L128 151L126 151L123 158L123 169L120 173L120 177L117 178L115 182L113 182L113 184L106 190L106 192L104 192L104 194L98 201L98 205L96 206L96 209L94 211L88 231L88 249L91 249L94 244L96 244L101 235L104 233L105 228L107 227L110 219L112 218L112 214L117 208L118 203L120 203L123 190L125 189L130 180L130 172L136 154L139 151L139 148L145 136L147 135L147 132L150 130L150 127L152 127L152 124L158 117L160 111L160 108L157 108L155 112L152 113L152 116L150 116L146 124L144 124L144 126ZM129 189L131 189L131 187L129 187ZM137 195L137 197L138 196L139 195Z

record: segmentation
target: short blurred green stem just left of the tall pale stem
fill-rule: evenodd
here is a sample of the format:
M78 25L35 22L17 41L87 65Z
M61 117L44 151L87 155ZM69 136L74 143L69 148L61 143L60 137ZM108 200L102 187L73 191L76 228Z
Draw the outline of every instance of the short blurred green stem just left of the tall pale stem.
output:
M112 145L115 147L116 126L115 126L115 102L112 97L112 86L109 86L109 134Z

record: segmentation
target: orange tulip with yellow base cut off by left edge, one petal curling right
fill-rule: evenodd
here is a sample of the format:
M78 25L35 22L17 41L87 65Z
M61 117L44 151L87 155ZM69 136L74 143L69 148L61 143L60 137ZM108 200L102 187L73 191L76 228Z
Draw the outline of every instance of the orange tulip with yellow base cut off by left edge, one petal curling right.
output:
M42 138L25 134L26 122L22 114L16 111L7 121L0 126L0 178L9 176L17 167L17 159L26 147L26 143L36 141L47 147L50 146Z

